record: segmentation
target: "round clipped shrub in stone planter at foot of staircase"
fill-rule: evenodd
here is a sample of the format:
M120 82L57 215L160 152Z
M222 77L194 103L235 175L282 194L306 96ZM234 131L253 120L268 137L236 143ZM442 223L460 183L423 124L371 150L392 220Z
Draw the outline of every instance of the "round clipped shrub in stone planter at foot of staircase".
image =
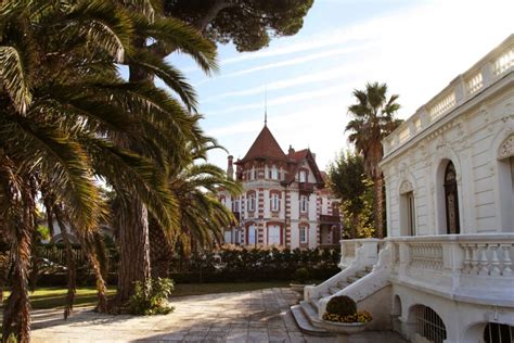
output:
M346 295L332 297L326 304L321 325L337 335L340 343L348 342L348 335L363 331L372 318L365 310L357 310L356 302Z

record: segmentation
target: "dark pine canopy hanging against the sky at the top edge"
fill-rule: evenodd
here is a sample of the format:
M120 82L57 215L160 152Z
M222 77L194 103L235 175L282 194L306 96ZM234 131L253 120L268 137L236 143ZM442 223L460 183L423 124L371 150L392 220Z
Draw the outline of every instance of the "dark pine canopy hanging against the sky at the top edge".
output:
M192 24L237 51L267 47L271 37L295 35L313 0L164 0L167 15Z

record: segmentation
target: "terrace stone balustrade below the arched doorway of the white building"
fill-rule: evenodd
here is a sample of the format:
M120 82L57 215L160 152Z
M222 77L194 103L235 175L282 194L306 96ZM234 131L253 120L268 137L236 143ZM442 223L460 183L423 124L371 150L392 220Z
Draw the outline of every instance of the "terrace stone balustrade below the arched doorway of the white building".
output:
M514 303L514 233L398 237L385 241L391 249L393 279L452 296L470 296L487 289Z

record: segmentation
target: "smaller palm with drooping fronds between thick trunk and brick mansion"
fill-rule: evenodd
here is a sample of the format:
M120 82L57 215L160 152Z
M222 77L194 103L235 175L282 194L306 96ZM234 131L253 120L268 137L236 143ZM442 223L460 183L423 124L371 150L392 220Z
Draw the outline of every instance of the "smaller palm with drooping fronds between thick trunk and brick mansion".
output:
M206 160L207 151L220 148L216 141L204 138L202 147L189 151L176 167L170 166L169 185L178 204L178 226L171 234L151 220L150 253L152 261L152 276L154 278L168 277L169 259L180 246L181 254L189 254L191 246L213 246L222 241L223 228L235 223L235 218L216 196L219 188L232 194L241 192L241 185L231 180L221 168Z

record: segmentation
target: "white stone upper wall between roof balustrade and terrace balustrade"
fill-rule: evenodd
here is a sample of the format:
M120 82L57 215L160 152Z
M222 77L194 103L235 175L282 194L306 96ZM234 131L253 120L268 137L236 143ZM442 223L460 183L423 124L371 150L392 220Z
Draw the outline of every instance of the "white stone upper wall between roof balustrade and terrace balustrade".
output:
M404 234L400 187L406 181L413 187L417 234L446 232L442 177L448 160L458 174L461 232L513 231L514 211L501 201L512 194L510 165L498 161L500 145L514 132L513 99L512 87L487 101L477 99L384 161L389 236Z

